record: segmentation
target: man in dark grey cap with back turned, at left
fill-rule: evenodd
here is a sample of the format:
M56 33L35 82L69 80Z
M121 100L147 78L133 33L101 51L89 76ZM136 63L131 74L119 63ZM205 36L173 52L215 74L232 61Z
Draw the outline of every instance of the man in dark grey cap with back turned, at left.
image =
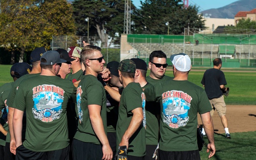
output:
M13 104L17 159L69 158L67 102L71 98L75 101L76 88L69 80L56 76L64 62L57 51L45 52L40 59L41 74L23 80L18 87ZM23 141L24 111L29 126Z

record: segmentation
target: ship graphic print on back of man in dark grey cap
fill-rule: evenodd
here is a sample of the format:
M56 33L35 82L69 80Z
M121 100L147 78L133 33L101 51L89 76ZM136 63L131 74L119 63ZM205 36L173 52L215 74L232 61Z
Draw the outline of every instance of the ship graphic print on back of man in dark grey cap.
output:
M34 106L32 112L35 119L52 122L59 119L62 112L64 90L55 85L43 84L33 88Z

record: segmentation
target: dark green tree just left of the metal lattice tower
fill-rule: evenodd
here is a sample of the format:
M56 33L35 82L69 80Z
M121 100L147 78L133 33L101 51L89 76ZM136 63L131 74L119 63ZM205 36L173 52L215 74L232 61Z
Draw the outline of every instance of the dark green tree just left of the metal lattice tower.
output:
M87 35L89 17L89 35L98 35L101 47L108 47L108 35L115 37L123 32L125 0L75 0L73 16L78 28L77 35ZM132 9L135 6L132 4Z

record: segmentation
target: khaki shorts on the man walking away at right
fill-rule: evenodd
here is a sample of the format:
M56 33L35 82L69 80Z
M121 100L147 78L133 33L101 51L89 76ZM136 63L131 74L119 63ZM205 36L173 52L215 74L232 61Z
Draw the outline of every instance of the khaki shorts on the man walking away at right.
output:
M217 110L219 116L226 115L227 108L226 108L226 103L224 102L224 96L221 96L219 98L214 98L209 101L212 106L212 111L210 111L211 116L213 116L215 109Z

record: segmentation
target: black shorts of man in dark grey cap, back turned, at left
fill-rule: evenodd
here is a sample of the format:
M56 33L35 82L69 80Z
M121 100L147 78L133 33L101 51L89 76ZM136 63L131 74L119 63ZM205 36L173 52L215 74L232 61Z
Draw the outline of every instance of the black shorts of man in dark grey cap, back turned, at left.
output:
M54 151L31 151L20 145L16 148L15 160L69 160L70 146Z

